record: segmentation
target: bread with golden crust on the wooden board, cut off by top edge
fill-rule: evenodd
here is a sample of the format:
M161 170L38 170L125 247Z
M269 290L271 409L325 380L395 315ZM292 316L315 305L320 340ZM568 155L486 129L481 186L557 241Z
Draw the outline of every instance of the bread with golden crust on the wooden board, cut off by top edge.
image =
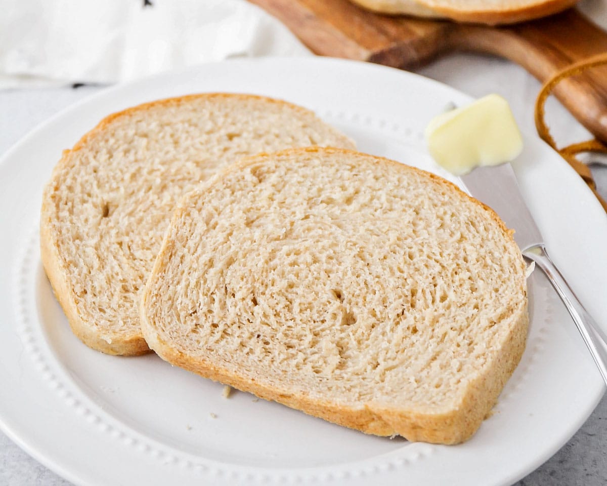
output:
M578 0L353 0L375 12L513 24L565 10Z

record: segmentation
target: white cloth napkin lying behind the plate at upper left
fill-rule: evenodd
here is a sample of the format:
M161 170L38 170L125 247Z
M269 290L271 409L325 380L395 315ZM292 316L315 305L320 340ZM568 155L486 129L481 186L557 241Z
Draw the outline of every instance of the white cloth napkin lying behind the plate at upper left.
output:
M310 55L246 0L0 0L0 89L116 83L234 56Z

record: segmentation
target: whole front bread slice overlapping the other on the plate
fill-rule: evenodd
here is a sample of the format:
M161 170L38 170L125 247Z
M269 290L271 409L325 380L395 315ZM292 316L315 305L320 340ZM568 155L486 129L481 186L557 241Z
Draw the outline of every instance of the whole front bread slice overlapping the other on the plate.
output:
M437 176L343 149L245 160L186 196L141 300L164 360L369 434L457 443L523 353L525 265Z

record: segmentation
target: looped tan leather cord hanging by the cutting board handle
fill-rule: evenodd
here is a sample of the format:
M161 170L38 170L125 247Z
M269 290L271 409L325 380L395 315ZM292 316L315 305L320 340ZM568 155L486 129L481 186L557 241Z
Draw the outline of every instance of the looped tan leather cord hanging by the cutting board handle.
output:
M586 142L572 143L571 145L559 149L557 148L557 143L550 134L546 121L544 120L544 116L546 114L544 110L544 103L546 103L546 100L548 99L552 90L558 83L560 83L560 81L570 76L581 74L586 69L590 69L591 67L603 66L604 64L607 64L607 52L592 56L578 63L571 64L571 66L557 72L557 74L546 81L546 83L544 83L544 85L541 87L540 94L538 94L537 99L535 100L535 128L537 128L537 132L541 139L543 139L544 142L548 143L548 145L554 148L555 151L561 154L561 157L569 162L569 165L571 165L572 168L574 168L575 171L582 176L582 179L585 180L588 187L591 189L597 199L599 199L599 202L605 211L607 211L607 202L605 202L600 194L597 193L597 187L594 179L592 178L590 169L585 163L582 163L577 159L577 154L580 154L581 152L603 152L607 154L607 146L600 140L594 139L587 140Z

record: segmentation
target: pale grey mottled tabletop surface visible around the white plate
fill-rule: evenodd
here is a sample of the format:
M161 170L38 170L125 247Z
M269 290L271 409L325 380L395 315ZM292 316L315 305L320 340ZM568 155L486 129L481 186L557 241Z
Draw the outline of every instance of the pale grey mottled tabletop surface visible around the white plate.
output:
M535 133L533 101L540 85L518 66L486 56L456 54L418 72L473 96L490 92L504 95L510 101L521 129ZM51 115L100 89L97 86L81 86L0 91L0 154ZM587 136L585 130L554 100L548 105L548 117L555 137L563 143L582 140ZM593 168L593 173L600 193L607 198L607 167L597 166ZM604 397L577 434L548 462L521 479L516 486L607 484L606 429L607 397ZM70 483L32 459L0 432L0 485L69 486Z

